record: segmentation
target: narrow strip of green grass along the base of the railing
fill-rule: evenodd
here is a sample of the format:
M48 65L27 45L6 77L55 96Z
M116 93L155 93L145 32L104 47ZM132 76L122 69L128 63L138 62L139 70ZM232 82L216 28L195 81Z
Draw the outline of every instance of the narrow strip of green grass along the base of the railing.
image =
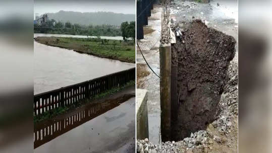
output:
M112 88L110 90L107 90L107 91L105 91L103 93L100 93L100 94L96 95L95 97L90 97L88 99L83 99L81 101L78 101L75 104L70 105L70 106L59 107L57 109L53 109L51 111L45 112L42 115L34 116L34 124L38 123L40 121L46 120L46 119L56 117L57 115L61 115L63 113L66 113L69 110L73 110L73 109L78 108L78 107L80 107L80 106L82 106L84 104L91 103L94 100L101 99L101 98L104 98L104 97L107 97L107 96L111 96L111 95L121 91L122 89L127 88L127 87L132 86L132 85L135 85L135 81L130 81L126 85L124 85L122 87L119 87L119 88Z

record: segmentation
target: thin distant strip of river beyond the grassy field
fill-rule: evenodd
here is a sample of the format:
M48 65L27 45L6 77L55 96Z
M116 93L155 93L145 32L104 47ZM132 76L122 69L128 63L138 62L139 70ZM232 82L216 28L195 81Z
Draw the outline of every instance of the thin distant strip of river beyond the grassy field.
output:
M43 34L43 33L35 33L34 37L73 37L73 38L96 38L97 36L83 36L83 35L62 35L62 34ZM123 37L116 36L100 36L101 39L113 39L113 40L123 40Z

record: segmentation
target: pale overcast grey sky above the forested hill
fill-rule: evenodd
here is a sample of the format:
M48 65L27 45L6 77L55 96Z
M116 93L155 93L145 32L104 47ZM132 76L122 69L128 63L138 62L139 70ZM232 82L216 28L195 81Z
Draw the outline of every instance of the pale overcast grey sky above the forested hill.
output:
M34 17L38 13L74 12L114 12L135 14L135 0L34 0Z

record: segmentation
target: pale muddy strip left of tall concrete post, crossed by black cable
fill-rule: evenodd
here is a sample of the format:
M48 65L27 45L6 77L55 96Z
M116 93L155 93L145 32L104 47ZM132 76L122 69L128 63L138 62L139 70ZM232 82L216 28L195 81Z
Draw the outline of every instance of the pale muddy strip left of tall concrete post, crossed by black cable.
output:
M148 64L152 67L156 74L159 75L159 39L161 30L161 11L159 5L154 5L151 10L151 17L148 20L148 26L154 29L152 33L144 35L144 39L137 40ZM137 49L137 63L146 64L140 51ZM147 108L148 108L148 132L149 140L154 143L160 143L160 92L159 78L149 69L150 74L143 78L144 88L148 92Z

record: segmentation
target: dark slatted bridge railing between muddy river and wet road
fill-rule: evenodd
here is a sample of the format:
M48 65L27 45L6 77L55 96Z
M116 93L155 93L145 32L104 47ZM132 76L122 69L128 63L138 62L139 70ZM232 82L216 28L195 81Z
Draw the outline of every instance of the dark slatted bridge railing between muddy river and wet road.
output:
M132 80L135 80L135 67L34 95L33 114L38 116L59 107L72 105L114 87L121 87Z

